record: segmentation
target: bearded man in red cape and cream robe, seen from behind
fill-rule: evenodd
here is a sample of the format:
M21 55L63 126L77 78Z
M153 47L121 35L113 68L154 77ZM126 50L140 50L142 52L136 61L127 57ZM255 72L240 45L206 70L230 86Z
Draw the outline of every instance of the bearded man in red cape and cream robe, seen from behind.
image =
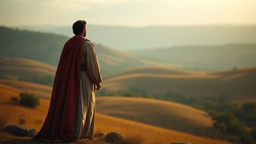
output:
M95 92L101 87L98 59L86 36L86 21L73 26L75 36L63 47L47 117L34 141L93 140ZM96 88L97 85L97 88Z

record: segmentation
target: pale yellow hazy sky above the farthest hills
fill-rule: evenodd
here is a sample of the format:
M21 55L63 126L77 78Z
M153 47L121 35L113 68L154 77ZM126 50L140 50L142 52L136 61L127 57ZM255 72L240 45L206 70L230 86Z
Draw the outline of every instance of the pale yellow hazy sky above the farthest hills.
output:
M1 0L0 25L256 24L256 0Z

